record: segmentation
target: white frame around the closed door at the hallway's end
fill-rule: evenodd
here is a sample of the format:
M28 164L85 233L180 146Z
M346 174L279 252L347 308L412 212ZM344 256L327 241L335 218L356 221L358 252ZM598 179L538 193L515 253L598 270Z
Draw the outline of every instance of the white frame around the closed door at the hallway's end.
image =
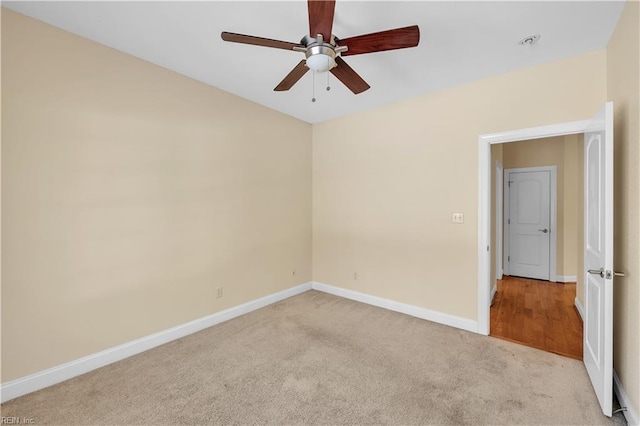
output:
M505 169L505 176L508 177L509 173L518 172L549 172L549 281L556 282L556 263L558 253L558 210L557 210L557 198L558 198L558 166L541 166L541 167L521 167L515 169ZM504 217L507 217L509 213L509 179L504 181ZM510 254L509 250L509 228L504 228L504 273L509 275L509 262L507 262L507 256Z

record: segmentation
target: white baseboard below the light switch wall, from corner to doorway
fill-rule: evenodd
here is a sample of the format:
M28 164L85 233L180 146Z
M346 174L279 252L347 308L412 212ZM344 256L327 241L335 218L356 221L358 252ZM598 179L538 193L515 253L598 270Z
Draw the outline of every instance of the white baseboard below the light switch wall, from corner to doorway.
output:
M462 330L471 331L473 333L478 332L478 323L476 321L473 321L467 318L461 318L454 315L445 314L442 312L432 311L430 309L420 308L418 306L396 302L393 300L384 299L382 297L371 296L369 294L360 293L353 290L347 290L345 288L335 287L328 284L322 284L315 281L311 284L311 287L314 290L333 294L335 296L344 297L345 299L355 300L356 302L366 303L367 305L373 305L379 308L389 309L390 311L400 312L403 314L411 315L413 317L437 322L439 324L444 324L451 327L460 328Z

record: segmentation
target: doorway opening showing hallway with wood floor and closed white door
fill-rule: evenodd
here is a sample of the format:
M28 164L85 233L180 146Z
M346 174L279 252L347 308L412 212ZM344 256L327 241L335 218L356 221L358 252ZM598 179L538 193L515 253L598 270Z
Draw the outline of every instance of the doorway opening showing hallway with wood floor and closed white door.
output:
M504 277L492 272L490 335L574 359L582 359L582 320L575 308L580 142L578 135L567 135L492 147L492 162L504 167L503 195L492 196L494 247L504 244L496 269ZM500 180L497 172L492 178Z

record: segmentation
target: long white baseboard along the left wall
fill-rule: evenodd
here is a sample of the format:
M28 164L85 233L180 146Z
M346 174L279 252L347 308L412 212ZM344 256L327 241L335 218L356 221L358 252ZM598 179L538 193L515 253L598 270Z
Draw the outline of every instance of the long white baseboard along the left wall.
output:
M305 283L287 290L270 294L256 300L252 300L224 311L216 312L206 317L193 320L176 327L172 327L149 336L124 343L104 351L85 356L83 358L67 362L46 370L30 374L19 379L11 380L0 385L0 400L9 401L22 395L44 389L56 383L69 380L73 377L88 373L105 365L139 354L155 348L172 340L179 339L189 334L196 333L205 328L247 314L257 309L279 302L291 296L311 290L311 283Z

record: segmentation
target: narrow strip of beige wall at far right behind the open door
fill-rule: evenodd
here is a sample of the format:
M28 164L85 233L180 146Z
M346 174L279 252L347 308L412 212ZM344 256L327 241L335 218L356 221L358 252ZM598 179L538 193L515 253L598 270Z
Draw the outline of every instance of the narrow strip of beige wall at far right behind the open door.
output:
M614 102L613 366L640 413L640 3L627 2L607 47L607 97Z

